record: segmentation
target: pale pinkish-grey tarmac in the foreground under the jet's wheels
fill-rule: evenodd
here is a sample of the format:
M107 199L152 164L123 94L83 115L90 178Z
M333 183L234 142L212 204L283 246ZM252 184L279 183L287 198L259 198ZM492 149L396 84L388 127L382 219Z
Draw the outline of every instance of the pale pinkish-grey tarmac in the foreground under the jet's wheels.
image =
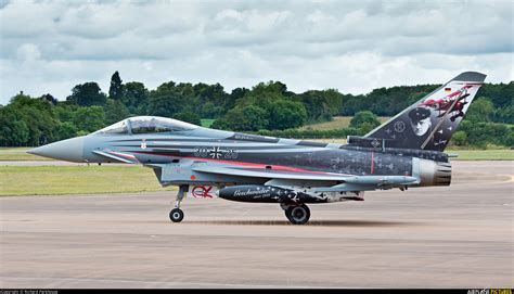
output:
M449 188L279 205L170 192L0 199L1 287L513 287L513 162L454 162ZM91 183L94 184L94 183Z

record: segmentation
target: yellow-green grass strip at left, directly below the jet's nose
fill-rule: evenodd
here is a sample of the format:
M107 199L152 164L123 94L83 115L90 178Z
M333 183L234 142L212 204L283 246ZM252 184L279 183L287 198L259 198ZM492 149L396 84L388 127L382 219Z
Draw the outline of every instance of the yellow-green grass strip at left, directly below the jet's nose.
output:
M141 166L0 166L0 196L162 191Z

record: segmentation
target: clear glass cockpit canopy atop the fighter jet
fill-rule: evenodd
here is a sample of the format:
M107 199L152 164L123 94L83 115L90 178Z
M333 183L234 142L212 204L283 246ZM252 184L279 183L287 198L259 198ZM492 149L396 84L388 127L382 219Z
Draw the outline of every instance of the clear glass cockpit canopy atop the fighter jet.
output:
M123 135L123 133L155 133L192 130L198 126L159 116L136 116L124 119L105 127L94 133Z

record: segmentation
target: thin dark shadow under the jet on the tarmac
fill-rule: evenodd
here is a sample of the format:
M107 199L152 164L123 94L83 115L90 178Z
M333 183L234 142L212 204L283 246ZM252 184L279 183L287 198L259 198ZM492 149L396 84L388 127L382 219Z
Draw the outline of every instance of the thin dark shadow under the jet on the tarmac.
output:
M188 221L188 223L201 225L229 225L229 226L295 226L287 220L211 220L211 221ZM412 226L413 222L401 221L376 221L376 220L310 220L303 226L309 227L401 227ZM417 222L415 225L419 225ZM301 227L301 226L299 226Z

